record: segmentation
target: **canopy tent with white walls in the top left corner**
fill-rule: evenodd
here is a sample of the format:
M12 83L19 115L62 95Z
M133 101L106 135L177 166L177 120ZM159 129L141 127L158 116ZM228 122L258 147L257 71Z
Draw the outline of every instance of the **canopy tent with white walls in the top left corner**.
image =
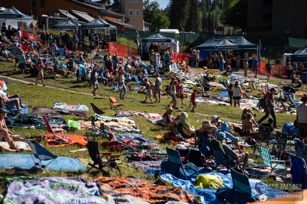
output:
M25 14L18 11L14 6L0 12L0 23L5 22L6 28L10 25L11 28L18 28L18 23L23 25L24 30L28 30L28 25L30 25L33 21L32 16L26 16ZM24 25L24 23L26 25Z

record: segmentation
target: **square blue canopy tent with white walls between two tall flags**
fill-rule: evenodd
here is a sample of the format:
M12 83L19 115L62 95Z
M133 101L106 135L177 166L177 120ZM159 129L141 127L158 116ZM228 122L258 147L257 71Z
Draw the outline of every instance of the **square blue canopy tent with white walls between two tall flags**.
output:
M148 38L143 38L142 39L142 50L143 50L143 53L142 53L142 58L143 60L148 60L148 55L149 55L149 52L150 50L149 49L149 46L150 44L153 43L153 45L155 43L158 43L160 46L162 43L164 43L164 45L172 45L173 43L175 43L175 40L174 39L171 39L169 37L166 37L162 32L160 32L159 30L154 33L153 35L149 36ZM173 49L172 47L172 50L175 51L175 49Z

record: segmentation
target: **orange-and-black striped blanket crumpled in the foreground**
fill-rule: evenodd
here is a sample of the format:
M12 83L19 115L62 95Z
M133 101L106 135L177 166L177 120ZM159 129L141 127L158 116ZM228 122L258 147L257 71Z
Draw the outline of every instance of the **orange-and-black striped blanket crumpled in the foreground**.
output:
M146 183L134 177L103 177L99 176L92 180L100 184L102 195L122 197L131 195L134 198L150 203L178 201L195 203L193 195L179 188L161 186L154 183Z

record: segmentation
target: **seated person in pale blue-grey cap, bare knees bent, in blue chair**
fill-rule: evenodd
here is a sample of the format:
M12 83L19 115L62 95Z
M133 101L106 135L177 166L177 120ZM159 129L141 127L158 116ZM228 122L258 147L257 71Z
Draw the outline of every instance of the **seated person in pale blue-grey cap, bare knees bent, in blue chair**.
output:
M216 133L215 138L222 143L222 147L226 156L231 158L238 157L239 163L243 163L242 171L244 171L248 162L249 153L240 153L238 149L232 150L227 144L225 144L226 135L223 132ZM235 168L239 169L239 166L236 165Z

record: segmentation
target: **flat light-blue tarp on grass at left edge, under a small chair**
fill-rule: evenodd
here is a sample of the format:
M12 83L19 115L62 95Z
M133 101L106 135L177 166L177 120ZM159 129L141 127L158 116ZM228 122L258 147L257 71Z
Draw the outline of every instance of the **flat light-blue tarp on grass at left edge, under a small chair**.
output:
M38 159L34 158L35 162L39 162ZM46 165L51 160L42 161L43 165ZM4 167L20 167L20 168L31 168L35 164L30 154L1 154L0 168ZM53 170L70 170L70 171L78 171L85 170L86 167L80 163L77 159L69 158L69 157L57 157L54 161L52 161L48 166L48 169Z

